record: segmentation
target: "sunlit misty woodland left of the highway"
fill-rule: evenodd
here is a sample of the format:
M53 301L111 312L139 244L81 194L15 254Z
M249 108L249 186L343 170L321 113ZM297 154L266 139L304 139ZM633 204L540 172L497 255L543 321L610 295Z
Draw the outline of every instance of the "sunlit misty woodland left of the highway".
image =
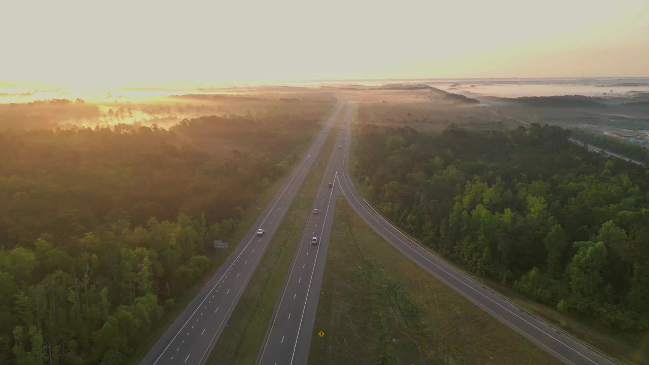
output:
M329 109L0 132L0 364L122 364Z

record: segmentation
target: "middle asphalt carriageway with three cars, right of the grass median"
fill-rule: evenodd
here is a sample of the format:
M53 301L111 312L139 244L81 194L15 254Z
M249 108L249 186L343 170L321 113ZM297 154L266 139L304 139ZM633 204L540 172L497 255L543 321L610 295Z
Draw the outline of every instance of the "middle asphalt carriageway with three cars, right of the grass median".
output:
M349 120L353 110L352 107L347 108L345 120ZM345 125L349 123L345 122ZM306 364L308 360L311 338L319 332L319 329L313 328L313 322L334 223L336 195L343 193L339 175L345 166L348 137L347 129L338 131L337 143L313 199L312 214L302 231L300 244L257 357L258 364ZM328 187L329 183L332 188ZM314 208L319 210L317 214L313 213ZM318 239L315 245L311 243L313 237Z

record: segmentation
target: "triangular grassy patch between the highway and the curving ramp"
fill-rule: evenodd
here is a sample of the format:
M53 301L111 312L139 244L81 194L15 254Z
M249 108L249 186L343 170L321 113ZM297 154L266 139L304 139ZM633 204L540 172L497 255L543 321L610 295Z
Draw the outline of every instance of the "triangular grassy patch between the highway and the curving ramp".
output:
M343 197L321 291L310 364L561 364L398 253Z

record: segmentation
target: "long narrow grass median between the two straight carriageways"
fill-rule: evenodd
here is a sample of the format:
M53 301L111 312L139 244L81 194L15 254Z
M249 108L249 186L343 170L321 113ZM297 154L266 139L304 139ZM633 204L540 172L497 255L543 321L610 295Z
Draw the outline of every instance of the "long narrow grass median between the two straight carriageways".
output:
M343 115L341 112L332 131L337 130ZM336 132L327 135L312 170L263 254L207 364L254 364L256 361L302 229L311 214L313 197L329 161L336 135Z

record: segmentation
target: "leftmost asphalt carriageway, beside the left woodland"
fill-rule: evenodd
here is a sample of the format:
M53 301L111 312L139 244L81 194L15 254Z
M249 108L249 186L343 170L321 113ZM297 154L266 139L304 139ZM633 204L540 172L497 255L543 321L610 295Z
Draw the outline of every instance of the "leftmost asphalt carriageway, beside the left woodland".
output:
M326 123L327 129L331 130L342 107L343 105L337 105ZM206 362L327 135L318 132L315 142L261 212L250 231L151 348L141 364L193 365ZM258 228L266 230L262 236L256 235Z

